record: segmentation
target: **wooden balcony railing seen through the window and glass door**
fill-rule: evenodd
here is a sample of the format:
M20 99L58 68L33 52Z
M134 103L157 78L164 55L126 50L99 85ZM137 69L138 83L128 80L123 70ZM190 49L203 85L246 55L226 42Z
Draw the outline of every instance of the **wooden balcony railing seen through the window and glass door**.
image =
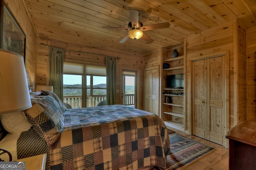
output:
M134 105L134 94L124 95L124 105ZM87 96L87 107L95 107L98 103L106 100L106 95ZM82 107L82 96L63 96L63 102L70 104L72 108Z

